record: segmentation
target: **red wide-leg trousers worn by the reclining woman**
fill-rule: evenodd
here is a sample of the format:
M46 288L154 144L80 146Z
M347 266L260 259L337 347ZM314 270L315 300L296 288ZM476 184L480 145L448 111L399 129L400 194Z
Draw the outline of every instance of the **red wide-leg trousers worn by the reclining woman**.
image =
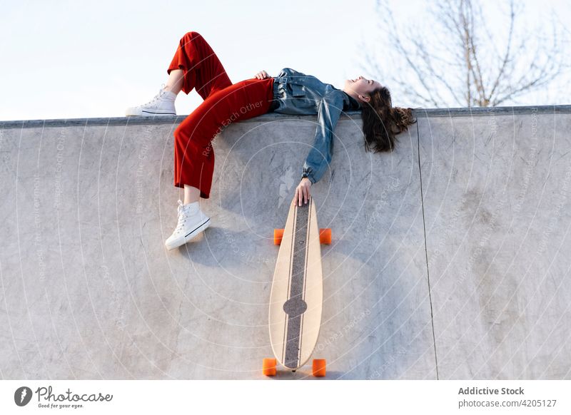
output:
M182 91L195 88L204 100L174 131L174 185L191 185L208 199L214 173L211 140L230 123L267 113L273 78L232 84L211 46L194 31L182 37L167 73L173 69L183 70Z

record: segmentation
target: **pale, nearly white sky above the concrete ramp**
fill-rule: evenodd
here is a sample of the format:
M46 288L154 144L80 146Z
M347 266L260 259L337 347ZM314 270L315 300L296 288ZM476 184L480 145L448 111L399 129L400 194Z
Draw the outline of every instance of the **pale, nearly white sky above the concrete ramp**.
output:
M423 1L390 3L403 21L424 19ZM571 21L569 1L525 3L535 21L546 4ZM374 4L0 0L0 120L121 117L158 93L187 31L204 36L233 82L290 67L341 88L346 78L374 77L363 71L360 51L363 41L375 45L383 36ZM549 99L534 103L555 103ZM191 113L200 102L196 92L181 93L177 113ZM406 97L393 96L393 105L407 106Z

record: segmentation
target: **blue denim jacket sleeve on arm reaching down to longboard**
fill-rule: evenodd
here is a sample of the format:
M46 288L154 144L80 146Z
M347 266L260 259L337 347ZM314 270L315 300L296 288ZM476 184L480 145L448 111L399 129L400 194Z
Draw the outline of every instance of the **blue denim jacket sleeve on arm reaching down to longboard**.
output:
M343 91L330 91L318 104L315 140L302 168L311 183L321 179L333 158L333 131L343 111L343 98Z

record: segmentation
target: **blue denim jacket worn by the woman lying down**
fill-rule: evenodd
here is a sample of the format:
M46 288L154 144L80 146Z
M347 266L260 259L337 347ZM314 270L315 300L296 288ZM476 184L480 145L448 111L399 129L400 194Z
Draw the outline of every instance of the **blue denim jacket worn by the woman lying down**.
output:
M281 114L318 114L315 140L302 168L302 176L316 183L331 163L333 131L341 111L355 111L360 104L355 98L291 68L283 68L273 82L273 111Z

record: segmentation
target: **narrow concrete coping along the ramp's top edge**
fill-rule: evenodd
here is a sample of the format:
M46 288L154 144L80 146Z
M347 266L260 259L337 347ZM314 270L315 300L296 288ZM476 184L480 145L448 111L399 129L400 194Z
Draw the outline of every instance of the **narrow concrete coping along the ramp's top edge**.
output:
M471 117L471 116L515 116L520 114L568 114L571 113L571 105L565 106L512 106L512 107L475 107L475 108L413 108L416 118L433 117ZM94 125L145 125L145 124L178 124L188 115L161 116L161 117L108 117L108 118L71 118L53 120L21 120L0 121L0 129L5 128L53 128ZM283 119L308 119L315 116L290 116L284 114L267 113L256 118L240 121L247 122L272 122ZM360 120L360 111L348 111L341 115L343 120Z

